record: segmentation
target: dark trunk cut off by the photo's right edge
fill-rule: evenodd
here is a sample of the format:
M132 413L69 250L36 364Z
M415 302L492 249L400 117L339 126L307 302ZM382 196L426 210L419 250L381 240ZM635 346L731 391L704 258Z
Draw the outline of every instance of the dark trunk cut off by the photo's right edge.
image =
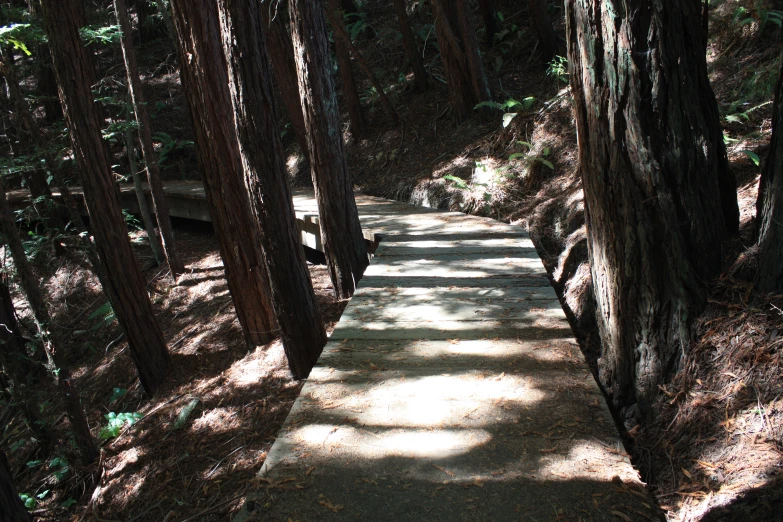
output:
M783 63L772 109L772 139L759 183L759 267L756 289L783 293Z

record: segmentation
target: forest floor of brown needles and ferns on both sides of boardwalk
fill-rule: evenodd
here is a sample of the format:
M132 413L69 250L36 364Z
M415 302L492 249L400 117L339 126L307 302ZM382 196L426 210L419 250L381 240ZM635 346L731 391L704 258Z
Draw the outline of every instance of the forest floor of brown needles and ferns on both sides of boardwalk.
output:
M530 105L511 111L517 116L505 128L502 111L454 125L427 17L411 16L414 31L429 42L425 56L434 78L428 93L417 94L410 78L398 77L403 52L386 4L366 2L366 19L376 34L360 42L360 49L388 86L402 124L387 123L362 79L370 129L359 139L346 132L357 189L527 228L595 370L600 345L566 73L557 64L540 63L526 9L509 8L507 34L484 57L496 100ZM503 10L514 4L498 5ZM672 521L777 520L783 510L783 297L751 293L759 172L754 156L764 157L770 137L781 33L758 23L732 24L730 9L724 3L713 12L708 61L738 180L741 234L726 245L725 273L710 283L712 297L694 325L685 371L662 390L656 421L615 419L635 465ZM562 34L562 23L558 30ZM170 44L154 40L143 50L148 99L158 100L152 112L157 130L166 133L160 140L169 151L166 175L198 179ZM117 60L116 53L106 52L99 66L121 73ZM285 139L293 141L290 133ZM288 150L292 181L307 185L301 155L294 144ZM512 154L519 156L510 160ZM118 151L120 164L122 156ZM135 234L142 262L149 264L149 251ZM177 237L189 273L175 285L164 270L145 272L174 362L152 400L141 395L127 345L117 339L85 262L79 256L55 258L46 249L37 261L95 434L110 412L143 415L104 443L99 466L68 464L72 472L62 478L58 458L76 462L72 448L43 458L18 419L6 427L5 440L21 441L10 454L21 491L42 495L35 508L41 520L226 520L299 392L279 342L250 352L243 346L210 227L179 223ZM332 298L324 267L310 269L327 326L333 327L345 303ZM21 312L24 316L23 307ZM41 396L52 396L48 381L41 382ZM64 432L57 405L44 401L42 408Z

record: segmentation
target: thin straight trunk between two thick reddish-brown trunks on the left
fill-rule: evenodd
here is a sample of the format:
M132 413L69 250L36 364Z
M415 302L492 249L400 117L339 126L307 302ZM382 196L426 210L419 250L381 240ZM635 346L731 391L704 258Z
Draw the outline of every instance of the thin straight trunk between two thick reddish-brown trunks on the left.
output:
M160 3L160 0L158 0L158 3ZM125 72L128 76L128 91L130 92L133 111L136 113L136 121L139 124L139 141L141 143L141 153L144 156L144 164L147 166L147 182L150 186L152 206L155 208L155 217L158 220L163 252L166 254L166 261L169 264L169 269L171 269L171 274L176 278L176 276L185 271L185 265L182 264L177 254L174 228L171 226L171 218L169 217L169 204L166 201L166 196L163 194L158 155L155 153L155 148L152 145L152 126L150 125L147 104L144 101L144 94L141 88L139 68L136 65L136 53L133 50L131 24L125 0L114 0L114 13L117 15L117 23L122 30L122 39L120 40L122 56L125 61ZM152 241L152 238L150 238L150 241Z

